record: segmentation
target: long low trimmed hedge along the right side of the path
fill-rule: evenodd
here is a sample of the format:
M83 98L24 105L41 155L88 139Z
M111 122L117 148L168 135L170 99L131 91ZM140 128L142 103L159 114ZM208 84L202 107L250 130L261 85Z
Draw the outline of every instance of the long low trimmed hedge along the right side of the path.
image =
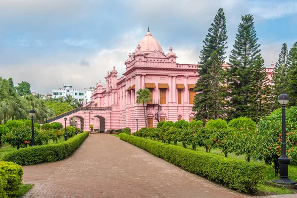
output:
M120 139L186 171L206 176L210 180L243 193L251 193L264 179L266 166L260 163L195 151L124 133L120 134Z

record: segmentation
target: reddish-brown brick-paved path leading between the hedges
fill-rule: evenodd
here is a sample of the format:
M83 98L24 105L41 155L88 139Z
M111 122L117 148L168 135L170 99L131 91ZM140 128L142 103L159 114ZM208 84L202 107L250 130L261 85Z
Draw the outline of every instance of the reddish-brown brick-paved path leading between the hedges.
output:
M24 166L25 198L239 198L108 134L92 134L69 158Z

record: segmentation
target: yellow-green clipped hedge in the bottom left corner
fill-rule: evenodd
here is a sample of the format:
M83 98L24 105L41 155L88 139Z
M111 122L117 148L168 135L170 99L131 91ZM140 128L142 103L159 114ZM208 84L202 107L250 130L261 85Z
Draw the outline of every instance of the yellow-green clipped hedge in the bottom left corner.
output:
M0 198L15 198L22 183L23 169L13 162L0 162Z

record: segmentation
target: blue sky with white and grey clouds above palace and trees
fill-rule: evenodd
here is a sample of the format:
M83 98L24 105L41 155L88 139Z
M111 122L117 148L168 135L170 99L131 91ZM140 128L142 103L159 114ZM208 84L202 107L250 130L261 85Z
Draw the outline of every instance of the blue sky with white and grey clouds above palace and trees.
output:
M220 7L228 55L244 14L254 15L267 67L297 41L297 0L0 0L0 76L41 94L94 87L113 65L124 73L148 26L165 53L172 46L177 62L196 64Z

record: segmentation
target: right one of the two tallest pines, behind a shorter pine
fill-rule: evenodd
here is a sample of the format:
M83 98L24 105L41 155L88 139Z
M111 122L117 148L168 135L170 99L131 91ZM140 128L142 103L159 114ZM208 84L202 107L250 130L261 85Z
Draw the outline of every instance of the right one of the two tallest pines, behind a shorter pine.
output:
M257 44L256 31L254 29L253 16L250 14L242 16L233 45L228 70L228 87L230 90L229 119L249 115L247 99L249 95L249 85L251 68L256 56L260 53Z

